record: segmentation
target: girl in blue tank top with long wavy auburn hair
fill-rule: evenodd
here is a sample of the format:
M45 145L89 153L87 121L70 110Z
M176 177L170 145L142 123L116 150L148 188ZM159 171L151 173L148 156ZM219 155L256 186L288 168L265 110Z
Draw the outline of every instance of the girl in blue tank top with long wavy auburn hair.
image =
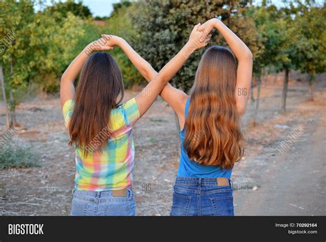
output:
M167 84L160 96L180 125L180 165L173 184L173 216L233 216L231 173L243 155L240 122L252 78L252 53L219 19L199 25L216 28L228 43L204 52L190 96ZM237 61L236 61L237 58ZM157 72L151 67L151 80Z

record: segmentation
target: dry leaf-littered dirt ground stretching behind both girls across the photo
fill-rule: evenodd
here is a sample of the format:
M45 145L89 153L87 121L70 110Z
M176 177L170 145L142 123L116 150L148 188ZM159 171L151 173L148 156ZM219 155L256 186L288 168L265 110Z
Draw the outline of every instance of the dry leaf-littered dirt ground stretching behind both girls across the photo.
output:
M246 128L249 111L243 118L246 157L232 173L236 214L326 214L325 90L325 84L321 85L315 90L316 100L307 102L307 86L292 83L287 114L280 115L281 85L264 85L259 125ZM134 92L126 92L126 99L132 96ZM0 106L2 133L6 122L3 104ZM25 129L14 135L12 144L40 153L39 167L0 170L0 197L6 195L0 199L0 215L69 214L74 151L67 146L60 101L43 96L23 102L17 109L17 121ZM276 129L275 124L291 129L306 124L307 130L280 155L276 146L291 129ZM160 99L155 101L135 125L133 138L136 213L169 215L180 147L172 109ZM259 186L258 190L251 190L254 186Z

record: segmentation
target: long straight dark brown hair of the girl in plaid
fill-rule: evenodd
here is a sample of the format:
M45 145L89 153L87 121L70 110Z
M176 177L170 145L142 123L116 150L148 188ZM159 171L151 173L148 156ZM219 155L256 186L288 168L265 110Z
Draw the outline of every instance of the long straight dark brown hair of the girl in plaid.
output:
M101 131L108 130L111 110L118 107L123 96L122 75L116 61L107 53L91 54L80 73L74 97L69 145L87 146ZM98 151L109 135L99 144ZM84 150L84 155L87 153L88 149Z

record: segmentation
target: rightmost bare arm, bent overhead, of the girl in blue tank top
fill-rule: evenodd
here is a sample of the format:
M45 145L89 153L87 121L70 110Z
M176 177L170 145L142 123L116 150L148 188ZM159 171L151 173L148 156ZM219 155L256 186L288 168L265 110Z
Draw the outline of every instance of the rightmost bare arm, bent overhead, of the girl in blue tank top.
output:
M198 30L202 30L208 34L213 28L219 30L238 60L235 98L237 100L237 111L240 115L243 115L246 111L248 96L250 94L252 53L247 45L219 19L206 21L206 23L199 26Z

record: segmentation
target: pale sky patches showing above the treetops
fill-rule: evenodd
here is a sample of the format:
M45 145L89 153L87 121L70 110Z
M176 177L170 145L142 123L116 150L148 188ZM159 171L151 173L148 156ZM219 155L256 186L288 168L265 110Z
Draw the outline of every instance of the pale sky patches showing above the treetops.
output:
M61 0L65 1L65 0ZM76 0L77 1L77 0ZM43 0L45 5L51 5L51 0ZM275 5L281 6L282 0L272 0ZM323 0L316 0L317 3L322 4ZM83 0L83 4L87 5L93 16L105 17L109 16L113 11L113 3L120 3L120 0ZM261 3L261 0L254 0L254 3ZM36 6L36 10L39 8Z

